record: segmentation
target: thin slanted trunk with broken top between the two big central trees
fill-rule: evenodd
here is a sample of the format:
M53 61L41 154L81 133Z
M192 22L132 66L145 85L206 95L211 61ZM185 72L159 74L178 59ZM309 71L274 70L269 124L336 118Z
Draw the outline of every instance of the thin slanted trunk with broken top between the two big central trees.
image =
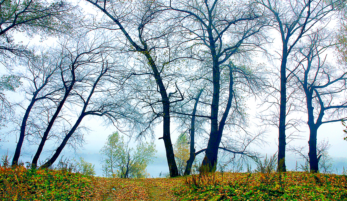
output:
M184 170L184 175L191 174L192 165L195 159L195 116L194 115L196 114L197 103L199 102L202 91L203 89L200 90L199 94L197 95L195 99L194 109L192 113L193 116L191 121L191 142L190 142L189 159L187 161L187 165Z

